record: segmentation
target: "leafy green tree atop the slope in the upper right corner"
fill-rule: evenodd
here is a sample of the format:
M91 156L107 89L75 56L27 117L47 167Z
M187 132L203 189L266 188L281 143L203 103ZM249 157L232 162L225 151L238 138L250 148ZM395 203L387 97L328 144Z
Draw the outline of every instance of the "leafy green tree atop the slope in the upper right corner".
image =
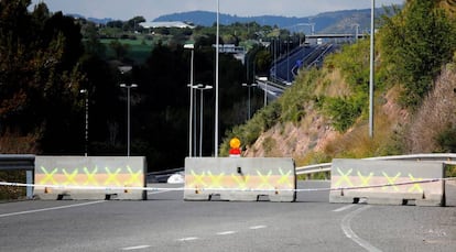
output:
M398 15L383 20L382 55L403 86L402 102L417 108L456 50L454 22L434 1L415 0Z

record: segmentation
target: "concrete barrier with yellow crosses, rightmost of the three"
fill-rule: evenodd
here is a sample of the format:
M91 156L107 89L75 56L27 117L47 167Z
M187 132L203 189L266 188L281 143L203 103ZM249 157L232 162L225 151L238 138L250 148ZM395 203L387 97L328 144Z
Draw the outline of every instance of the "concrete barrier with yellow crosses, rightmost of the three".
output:
M334 160L329 202L445 206L443 177L438 162Z

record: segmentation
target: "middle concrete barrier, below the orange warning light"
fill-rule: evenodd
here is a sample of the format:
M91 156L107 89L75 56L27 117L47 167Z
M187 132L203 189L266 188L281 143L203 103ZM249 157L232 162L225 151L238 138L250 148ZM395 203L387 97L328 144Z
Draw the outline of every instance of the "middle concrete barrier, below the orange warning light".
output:
M292 158L187 157L185 200L294 201Z

